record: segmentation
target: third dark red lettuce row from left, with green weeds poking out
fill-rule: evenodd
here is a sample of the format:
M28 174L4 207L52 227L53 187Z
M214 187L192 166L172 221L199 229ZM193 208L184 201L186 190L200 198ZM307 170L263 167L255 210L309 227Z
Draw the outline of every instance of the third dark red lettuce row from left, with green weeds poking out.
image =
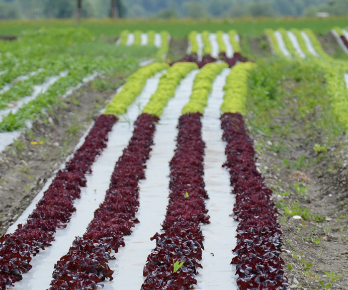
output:
M142 290L183 290L196 284L201 267L203 235L199 224L209 223L204 199L201 114L182 115L178 123L176 150L170 162L170 195L163 234L156 233L156 248L144 267ZM185 193L188 196L185 197ZM174 261L184 262L173 273Z

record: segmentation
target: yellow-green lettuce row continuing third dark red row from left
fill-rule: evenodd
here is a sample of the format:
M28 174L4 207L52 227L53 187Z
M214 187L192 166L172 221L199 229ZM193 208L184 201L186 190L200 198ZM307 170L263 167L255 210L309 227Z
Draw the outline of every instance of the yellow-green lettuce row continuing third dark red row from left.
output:
M226 63L210 63L199 71L193 81L190 99L182 108L182 114L204 113L209 93L212 90L212 83L225 68L228 68Z

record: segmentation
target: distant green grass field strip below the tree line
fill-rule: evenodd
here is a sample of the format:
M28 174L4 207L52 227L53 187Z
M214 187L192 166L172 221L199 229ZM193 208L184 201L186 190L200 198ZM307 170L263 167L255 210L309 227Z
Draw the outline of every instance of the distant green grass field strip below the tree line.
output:
M238 19L83 19L81 27L87 28L95 35L116 37L123 29L144 31L153 29L156 31L167 30L175 38L185 37L189 31L203 29L228 31L235 29L242 35L261 35L265 28L276 29L311 28L318 34L325 34L334 26L346 27L347 17L319 18L238 18ZM76 27L74 19L67 20L1 20L0 35L18 35L26 29L39 29L41 27Z

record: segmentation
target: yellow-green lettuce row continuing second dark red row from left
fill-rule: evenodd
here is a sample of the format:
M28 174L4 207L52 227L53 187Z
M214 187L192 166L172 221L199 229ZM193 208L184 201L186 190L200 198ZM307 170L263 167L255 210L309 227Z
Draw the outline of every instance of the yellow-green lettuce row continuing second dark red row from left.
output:
M160 117L168 101L174 97L175 89L190 71L198 69L195 63L176 63L160 79L156 92L145 105L143 113Z

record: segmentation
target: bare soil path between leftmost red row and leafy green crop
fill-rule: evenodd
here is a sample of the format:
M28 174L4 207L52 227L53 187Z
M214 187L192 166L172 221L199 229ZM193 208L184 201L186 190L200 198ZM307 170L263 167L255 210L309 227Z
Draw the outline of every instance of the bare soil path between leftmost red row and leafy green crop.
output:
M124 79L124 75L99 78L83 86L62 105L48 110L31 130L0 153L0 236L73 152L90 122Z

